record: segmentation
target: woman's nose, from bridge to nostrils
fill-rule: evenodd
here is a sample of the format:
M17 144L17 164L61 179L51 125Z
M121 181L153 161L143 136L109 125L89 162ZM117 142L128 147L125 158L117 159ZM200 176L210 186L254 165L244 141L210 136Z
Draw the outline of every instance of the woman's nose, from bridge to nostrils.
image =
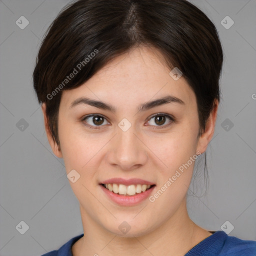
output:
M123 170L133 170L147 161L146 146L132 126L123 131L117 129L117 134L109 142L106 156L107 162Z

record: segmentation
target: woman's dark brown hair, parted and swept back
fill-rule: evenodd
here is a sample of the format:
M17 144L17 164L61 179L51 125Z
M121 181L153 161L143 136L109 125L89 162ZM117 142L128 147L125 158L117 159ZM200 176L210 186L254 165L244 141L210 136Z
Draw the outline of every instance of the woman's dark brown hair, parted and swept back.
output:
M160 50L170 70L182 71L196 95L200 132L205 129L214 99L219 101L223 61L210 19L186 0L78 0L47 29L33 71L58 146L61 91L83 84L109 60L143 44Z

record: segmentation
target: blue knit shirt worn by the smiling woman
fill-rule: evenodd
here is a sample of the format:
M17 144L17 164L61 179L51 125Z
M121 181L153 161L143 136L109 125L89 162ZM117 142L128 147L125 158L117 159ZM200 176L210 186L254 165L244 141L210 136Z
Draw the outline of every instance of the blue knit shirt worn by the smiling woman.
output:
M224 231L212 231L184 256L255 256L256 241L241 240L235 236L228 236ZM83 236L77 235L62 245L58 250L52 250L41 256L72 256L72 245Z

